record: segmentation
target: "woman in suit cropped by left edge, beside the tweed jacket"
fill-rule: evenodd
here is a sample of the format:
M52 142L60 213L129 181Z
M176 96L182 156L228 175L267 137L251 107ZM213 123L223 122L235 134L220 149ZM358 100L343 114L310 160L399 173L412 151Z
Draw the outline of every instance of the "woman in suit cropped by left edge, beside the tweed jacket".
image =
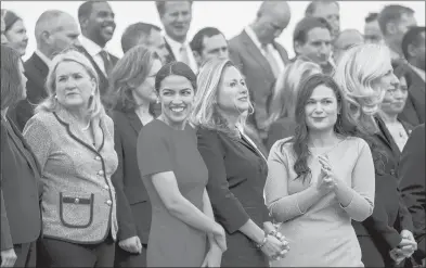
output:
M1 267L35 267L41 234L40 166L21 131L7 115L25 98L21 54L1 46Z

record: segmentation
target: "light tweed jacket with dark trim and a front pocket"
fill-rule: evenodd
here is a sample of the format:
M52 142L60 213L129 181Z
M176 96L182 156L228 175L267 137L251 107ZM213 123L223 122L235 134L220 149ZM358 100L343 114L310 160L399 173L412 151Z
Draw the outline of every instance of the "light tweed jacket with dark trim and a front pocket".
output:
M93 145L65 111L39 112L24 128L24 137L41 166L41 209L47 238L95 244L116 240L116 193L111 176L118 165L114 124L106 115L92 119L103 138Z

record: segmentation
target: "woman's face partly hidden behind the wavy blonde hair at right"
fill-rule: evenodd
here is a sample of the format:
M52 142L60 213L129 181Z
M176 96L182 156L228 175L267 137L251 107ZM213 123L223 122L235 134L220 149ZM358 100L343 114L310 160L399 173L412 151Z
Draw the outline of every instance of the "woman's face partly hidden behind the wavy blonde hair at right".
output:
M399 86L386 90L385 98L380 104L380 110L386 114L398 115L405 106L409 87L405 77L399 79Z

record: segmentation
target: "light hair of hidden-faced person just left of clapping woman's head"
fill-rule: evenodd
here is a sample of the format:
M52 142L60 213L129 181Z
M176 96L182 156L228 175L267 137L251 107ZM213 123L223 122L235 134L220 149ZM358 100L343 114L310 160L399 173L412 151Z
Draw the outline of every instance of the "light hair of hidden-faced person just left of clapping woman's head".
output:
M267 125L282 117L294 117L300 81L312 74L321 73L321 66L313 62L296 60L288 65L276 79Z

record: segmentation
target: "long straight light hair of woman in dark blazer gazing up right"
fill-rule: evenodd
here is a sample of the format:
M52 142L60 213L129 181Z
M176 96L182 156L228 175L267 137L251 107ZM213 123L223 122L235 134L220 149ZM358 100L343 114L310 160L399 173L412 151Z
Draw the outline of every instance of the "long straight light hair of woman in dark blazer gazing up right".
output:
M230 60L211 59L205 62L197 75L197 92L194 99L194 109L190 120L197 127L215 129L234 136L235 131L229 129L227 119L219 113L217 97L219 84L228 67L235 67ZM251 103L251 113L254 107ZM247 116L250 113L241 113L237 122L238 128L244 128Z

